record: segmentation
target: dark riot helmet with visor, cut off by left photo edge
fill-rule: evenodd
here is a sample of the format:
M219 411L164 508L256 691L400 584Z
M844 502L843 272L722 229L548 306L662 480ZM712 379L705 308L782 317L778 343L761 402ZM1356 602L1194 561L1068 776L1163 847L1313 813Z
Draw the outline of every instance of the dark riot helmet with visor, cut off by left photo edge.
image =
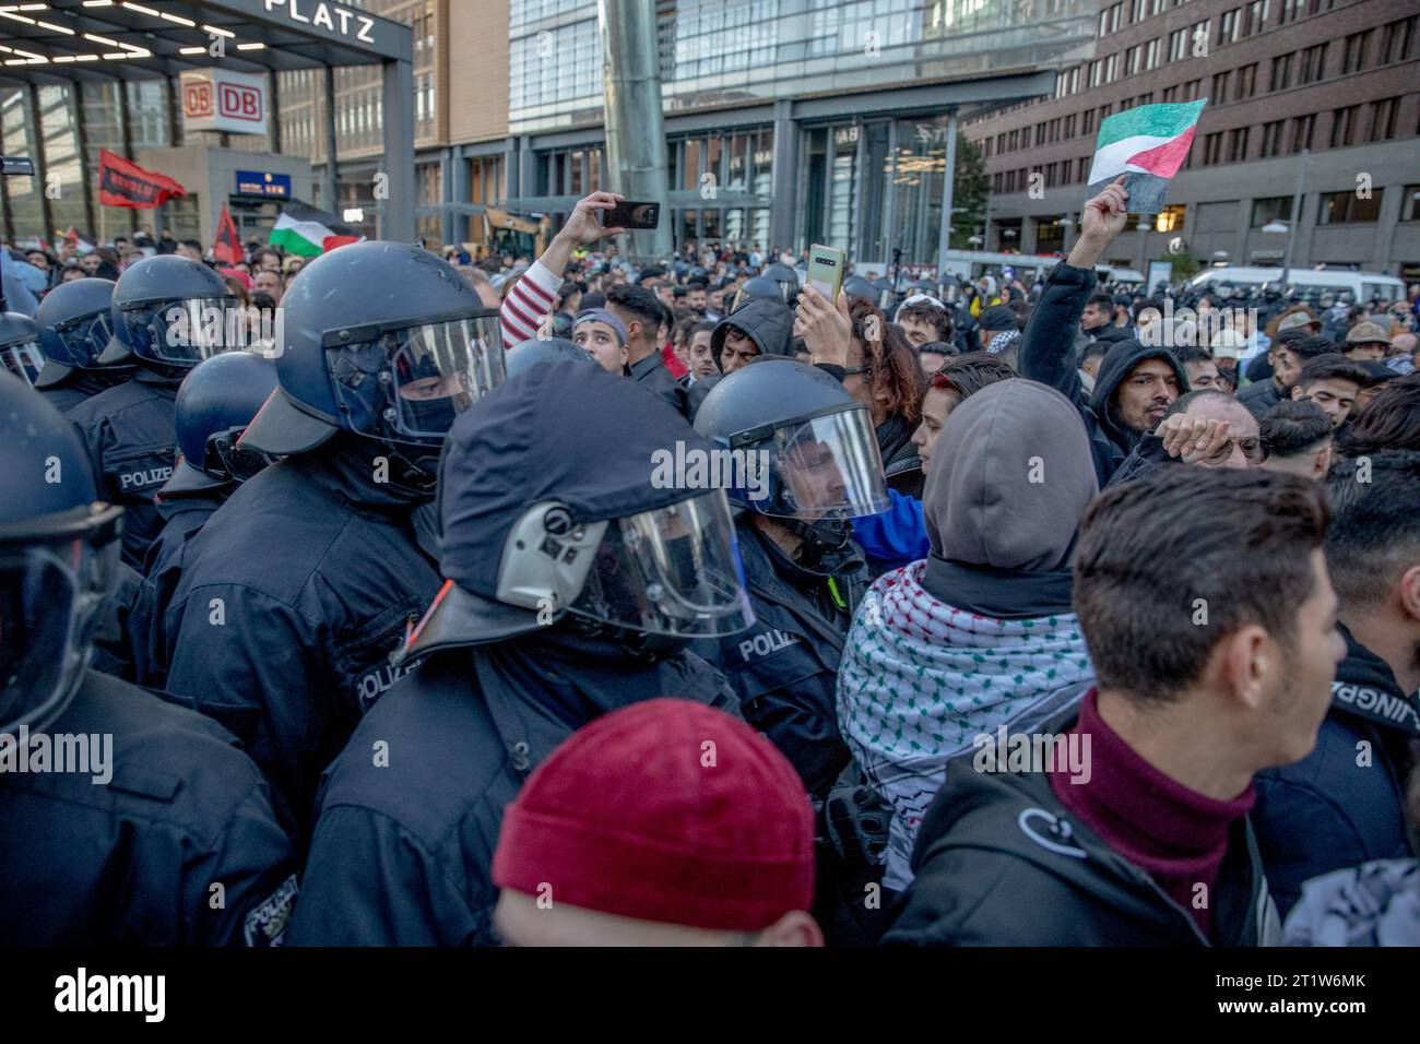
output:
M122 507L99 503L74 426L0 374L0 733L47 729L78 692L116 577Z

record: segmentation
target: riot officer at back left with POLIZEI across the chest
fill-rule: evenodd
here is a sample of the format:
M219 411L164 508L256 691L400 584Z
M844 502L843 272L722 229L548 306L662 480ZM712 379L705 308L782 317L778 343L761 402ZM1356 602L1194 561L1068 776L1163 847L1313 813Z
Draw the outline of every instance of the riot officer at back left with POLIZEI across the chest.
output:
M153 493L172 477L173 399L187 371L226 347L236 298L204 264L176 254L135 261L114 287L116 337L97 362L136 364L132 378L74 406L106 497L128 509L124 561L142 570L163 520Z

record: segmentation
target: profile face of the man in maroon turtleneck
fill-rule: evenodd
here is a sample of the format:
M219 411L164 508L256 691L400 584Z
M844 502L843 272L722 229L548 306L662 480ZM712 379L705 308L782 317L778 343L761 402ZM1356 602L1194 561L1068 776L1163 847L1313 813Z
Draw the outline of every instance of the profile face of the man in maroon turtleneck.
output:
M1331 709L1336 665L1346 658L1346 642L1336 629L1336 592L1321 550L1312 551L1311 562L1312 592L1296 608L1292 641L1274 636L1264 646L1269 655L1262 659L1262 714L1255 739L1268 749L1261 751L1258 767L1292 764L1312 751Z

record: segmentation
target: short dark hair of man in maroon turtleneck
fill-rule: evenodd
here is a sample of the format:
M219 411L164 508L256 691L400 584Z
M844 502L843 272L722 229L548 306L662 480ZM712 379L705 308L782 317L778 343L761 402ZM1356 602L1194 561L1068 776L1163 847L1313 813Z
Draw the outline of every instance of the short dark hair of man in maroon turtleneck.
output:
M1250 624L1289 646L1328 521L1321 483L1281 472L1164 467L1106 489L1075 551L1075 612L1099 687L1167 702Z

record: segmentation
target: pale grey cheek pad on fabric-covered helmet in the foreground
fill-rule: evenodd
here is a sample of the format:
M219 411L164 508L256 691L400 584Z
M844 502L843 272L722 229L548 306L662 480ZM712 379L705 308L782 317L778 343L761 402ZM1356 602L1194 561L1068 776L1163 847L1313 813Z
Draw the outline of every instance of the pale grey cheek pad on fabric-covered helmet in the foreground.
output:
M538 612L564 612L578 599L609 521L574 523L567 506L534 504L503 544L497 599Z

